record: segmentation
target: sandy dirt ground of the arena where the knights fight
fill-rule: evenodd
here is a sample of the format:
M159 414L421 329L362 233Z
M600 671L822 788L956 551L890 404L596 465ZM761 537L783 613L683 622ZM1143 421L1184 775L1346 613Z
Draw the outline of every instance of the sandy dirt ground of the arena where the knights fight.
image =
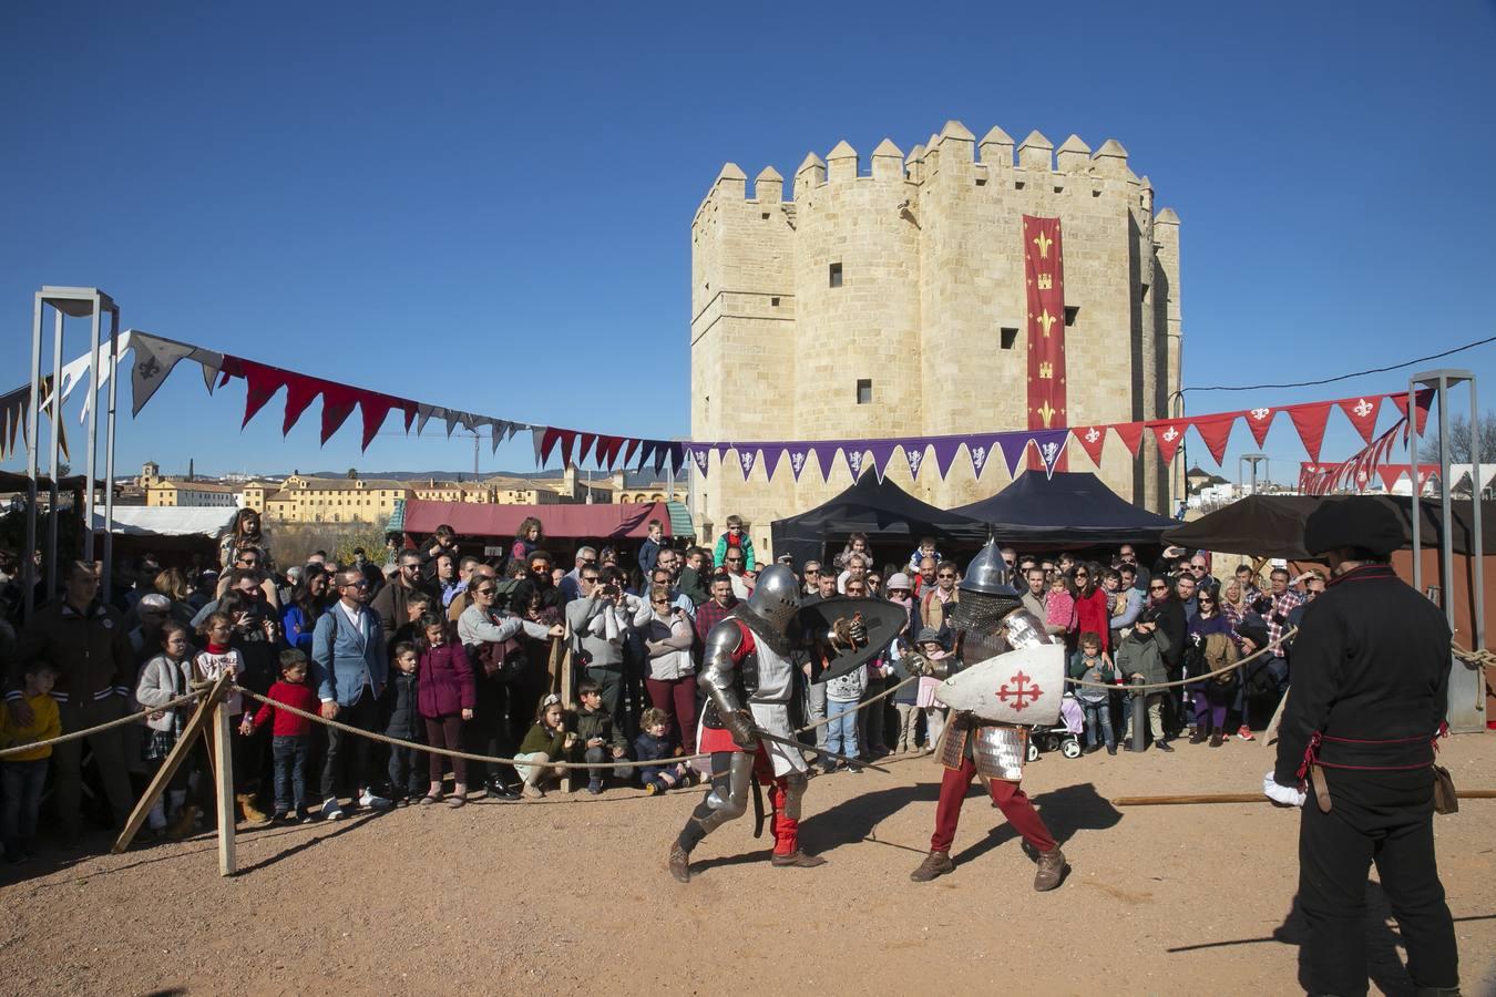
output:
M1496 735L1450 738L1441 756L1457 785L1496 786ZM923 756L811 782L802 842L830 864L770 868L749 816L696 851L690 885L666 849L699 791L245 831L232 879L211 836L51 856L0 868L0 991L1300 993L1300 949L1273 937L1294 898L1294 813L1109 803L1252 791L1269 758L1240 741L1043 756L1025 785L1073 865L1050 894L977 788L954 874L910 882L939 774ZM1435 827L1465 993L1493 994L1496 803ZM1369 900L1373 993L1411 994L1375 885Z

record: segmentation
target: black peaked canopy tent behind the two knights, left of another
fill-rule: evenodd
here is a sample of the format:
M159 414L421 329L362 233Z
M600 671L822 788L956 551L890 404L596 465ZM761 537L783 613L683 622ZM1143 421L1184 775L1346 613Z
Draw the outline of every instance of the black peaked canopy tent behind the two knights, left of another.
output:
M899 564L908 561L920 537L971 547L987 538L981 523L922 502L893 481L878 481L874 474L865 474L850 489L812 510L770 525L775 556L790 555L796 565L839 553L839 546L838 550L827 550L827 544L845 541L851 534L868 534L875 555L887 555L880 561L892 558ZM899 550L880 550L889 541L896 541Z

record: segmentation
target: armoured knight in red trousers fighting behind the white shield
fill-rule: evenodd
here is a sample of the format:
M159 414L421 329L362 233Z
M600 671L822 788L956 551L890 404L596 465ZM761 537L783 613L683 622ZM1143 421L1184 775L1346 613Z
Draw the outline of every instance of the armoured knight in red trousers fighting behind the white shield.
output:
M1022 608L1019 592L1008 583L1007 565L990 541L966 570L950 626L956 634L959 658L929 661L916 655L896 662L895 668L907 674L945 679L951 661L983 662L1014 649L1050 643L1044 622ZM987 695L998 692L993 688ZM1065 855L1022 789L1026 755L1026 726L996 723L975 713L953 710L936 749L945 771L935 809L931 852L910 879L923 883L956 868L950 861L950 846L956 839L960 804L972 776L981 776L993 804L1038 855L1034 889L1059 886L1067 868Z

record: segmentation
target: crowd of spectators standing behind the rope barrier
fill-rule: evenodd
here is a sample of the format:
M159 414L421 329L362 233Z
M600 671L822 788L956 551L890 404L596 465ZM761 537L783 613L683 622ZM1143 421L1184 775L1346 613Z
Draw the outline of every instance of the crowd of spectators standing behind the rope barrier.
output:
M1222 586L1204 553L1168 549L1147 567L1129 544L1098 553L1082 559L1004 549L1023 607L1067 644L1068 674L1113 686L1076 691L1085 750L1116 753L1126 741L1126 683L1201 676L1272 647L1242 674L1146 697L1158 750L1173 750L1182 735L1216 747L1231 734L1251 740L1288 683L1291 644L1279 640L1324 580L1272 568L1264 581L1240 565ZM259 517L238 516L215 568L184 572L145 556L118 565L115 590L100 592L97 565L64 564L61 595L18 628L19 572L13 555L0 558L7 700L0 747L148 710L139 725L0 762L7 856L30 855L46 785L58 842L76 842L85 807L94 824L118 827L135 788L183 734L193 707L171 706L174 700L224 673L271 701L238 694L229 701L235 794L248 822L458 807L474 795L534 798L561 774L558 762L598 764L582 776L591 794L613 785L657 795L697 782L694 768L673 759L696 750L705 637L749 596L763 567L741 520L729 519L714 549L672 546L663 525L651 522L631 555L582 546L570 565L555 564L537 520L527 520L498 558L464 553L455 534L440 528L419 546L390 546L383 561L359 550L337 564L317 552L278 568ZM907 559L880 567L859 534L835 558L797 570L808 602L877 598L905 616L887 649L848 676L811 682L812 662L805 661L797 722L817 722L815 743L854 759L824 762L821 771L857 773L857 761L932 752L944 723L932 680L860 707L899 682L905 652L953 652L950 616L960 601L962 565L923 540ZM551 643L562 637L574 703L557 695ZM521 764L471 764L401 746L416 743ZM90 794L85 752L93 759ZM174 776L142 830L147 839L180 839L211 822L208 762L197 749Z

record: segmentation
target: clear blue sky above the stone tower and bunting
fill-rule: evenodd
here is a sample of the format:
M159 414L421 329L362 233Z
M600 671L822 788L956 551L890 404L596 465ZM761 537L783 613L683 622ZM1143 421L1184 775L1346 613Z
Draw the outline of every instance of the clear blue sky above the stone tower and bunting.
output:
M1493 335L1496 6L1218 7L6 4L0 390L25 380L36 288L81 284L126 326L251 359L681 435L690 221L721 163L790 175L839 139L908 149L948 118L1126 145L1183 220L1186 386ZM1496 407L1496 344L1439 365ZM209 399L181 368L121 422L120 468L471 468L470 442L393 419L365 454L356 417L319 447L316 407L283 441L278 410L241 433L242 386ZM1327 459L1355 448L1330 427ZM1231 444L1228 477L1255 448L1245 427ZM1267 451L1303 457L1285 419ZM483 447L485 472L531 466L528 435Z

